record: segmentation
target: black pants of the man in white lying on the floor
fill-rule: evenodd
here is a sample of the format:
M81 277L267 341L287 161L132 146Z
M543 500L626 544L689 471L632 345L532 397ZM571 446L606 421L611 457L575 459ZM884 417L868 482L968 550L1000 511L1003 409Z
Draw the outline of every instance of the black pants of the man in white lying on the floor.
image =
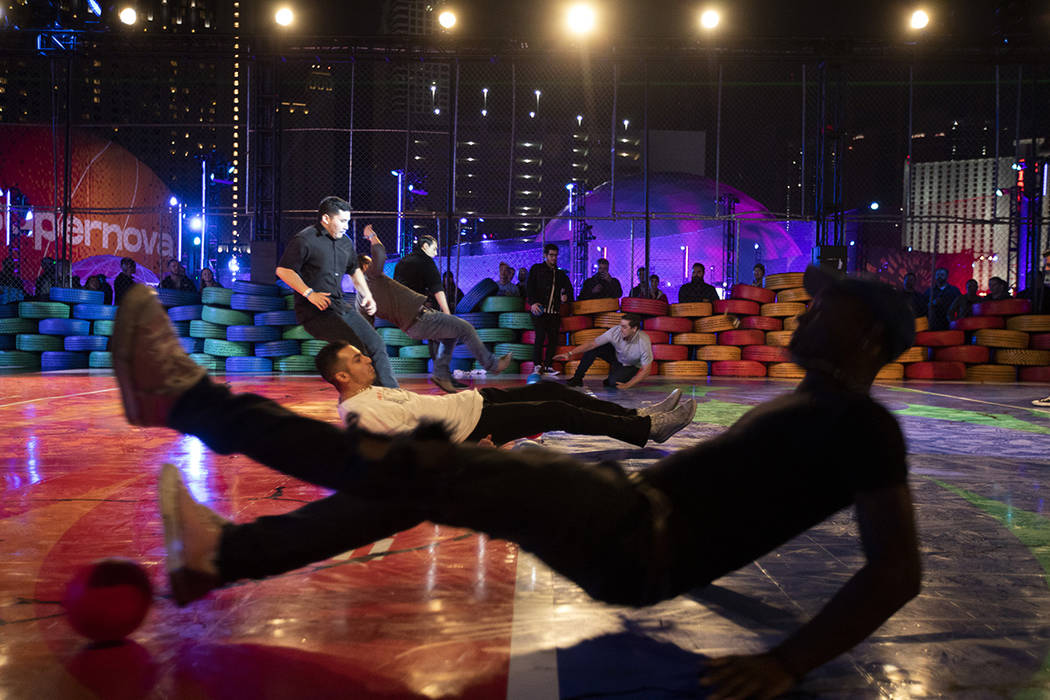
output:
M481 389L485 403L468 441L492 436L497 445L547 430L609 436L645 446L652 425L646 416L611 401L573 391L558 382L537 382L509 389Z

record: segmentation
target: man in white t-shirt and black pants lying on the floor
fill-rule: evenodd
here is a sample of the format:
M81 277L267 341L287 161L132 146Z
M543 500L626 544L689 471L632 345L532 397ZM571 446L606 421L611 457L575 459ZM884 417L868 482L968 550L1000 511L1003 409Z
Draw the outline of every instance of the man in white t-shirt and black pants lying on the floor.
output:
M434 396L375 386L372 360L346 342L326 345L317 355L321 377L339 390L339 417L357 418L371 432L408 432L421 423L440 423L453 442L478 442L486 437L497 445L547 430L608 436L643 447L665 442L689 425L696 413L692 399L678 404L675 389L664 401L643 408L624 408L573 391L556 382L525 386L486 386L459 394Z

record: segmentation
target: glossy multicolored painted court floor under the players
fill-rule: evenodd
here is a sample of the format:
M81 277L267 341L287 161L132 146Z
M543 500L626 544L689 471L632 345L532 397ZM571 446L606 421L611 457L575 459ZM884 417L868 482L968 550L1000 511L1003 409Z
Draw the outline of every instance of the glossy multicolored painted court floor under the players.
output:
M337 420L319 379L230 381ZM429 390L422 378L406 386ZM668 387L654 382L622 399L637 405ZM686 386L699 403L695 422L658 449L564 433L544 442L645 468L791 387ZM923 592L812 673L797 697L1050 697L1050 409L1029 405L1047 393L876 388L908 440ZM423 525L176 609L164 597L154 505L165 461L235 519L322 493L193 438L128 427L105 374L0 376L0 698L702 697L706 655L774 643L861 563L844 512L708 589L635 611L593 602L513 545ZM742 509L727 527L749 519ZM141 561L158 597L129 642L96 649L72 632L59 600L72 571L104 556Z

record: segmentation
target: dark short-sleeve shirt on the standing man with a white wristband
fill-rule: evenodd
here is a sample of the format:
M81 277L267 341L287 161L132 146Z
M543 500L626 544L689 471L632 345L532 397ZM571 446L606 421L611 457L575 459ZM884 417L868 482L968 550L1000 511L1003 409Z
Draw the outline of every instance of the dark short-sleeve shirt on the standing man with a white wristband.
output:
M314 292L328 292L332 299L342 299L342 276L357 270L357 251L348 236L333 238L314 224L295 234L277 266L297 272ZM307 312L316 309L306 297L296 295L295 311L299 312L300 306Z

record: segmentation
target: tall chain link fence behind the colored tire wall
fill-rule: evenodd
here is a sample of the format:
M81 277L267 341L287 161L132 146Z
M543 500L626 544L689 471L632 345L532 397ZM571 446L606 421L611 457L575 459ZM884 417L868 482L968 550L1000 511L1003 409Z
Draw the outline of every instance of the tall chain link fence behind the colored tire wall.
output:
M1047 71L192 43L0 55L4 274L32 294L44 258L71 274L129 255L228 281L334 194L392 254L438 236L464 290L553 241L578 289L605 257L625 294L647 268L671 301L694 262L728 288L756 263L803 269L815 243L894 283L912 272L923 289L944 266L1016 292L1046 247Z

